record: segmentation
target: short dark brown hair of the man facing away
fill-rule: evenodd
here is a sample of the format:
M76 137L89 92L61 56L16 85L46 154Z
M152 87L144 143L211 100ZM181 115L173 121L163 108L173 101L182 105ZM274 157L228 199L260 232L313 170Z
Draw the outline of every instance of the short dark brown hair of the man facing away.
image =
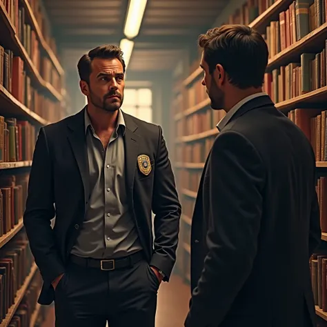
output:
M209 72L221 64L228 80L238 88L259 88L264 82L268 47L261 34L244 25L224 25L199 36Z

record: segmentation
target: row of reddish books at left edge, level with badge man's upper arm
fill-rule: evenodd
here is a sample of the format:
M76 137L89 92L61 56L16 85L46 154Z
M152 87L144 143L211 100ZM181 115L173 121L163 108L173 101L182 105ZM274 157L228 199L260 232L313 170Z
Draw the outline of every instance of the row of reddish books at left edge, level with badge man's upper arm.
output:
M0 116L0 162L32 160L36 128L28 121Z

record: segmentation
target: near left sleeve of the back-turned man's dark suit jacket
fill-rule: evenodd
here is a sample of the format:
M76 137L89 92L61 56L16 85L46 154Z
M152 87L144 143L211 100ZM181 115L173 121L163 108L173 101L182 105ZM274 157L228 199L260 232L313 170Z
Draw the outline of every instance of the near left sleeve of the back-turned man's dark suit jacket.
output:
M212 146L208 254L192 294L186 327L219 326L250 275L257 254L266 172L252 144L237 132Z

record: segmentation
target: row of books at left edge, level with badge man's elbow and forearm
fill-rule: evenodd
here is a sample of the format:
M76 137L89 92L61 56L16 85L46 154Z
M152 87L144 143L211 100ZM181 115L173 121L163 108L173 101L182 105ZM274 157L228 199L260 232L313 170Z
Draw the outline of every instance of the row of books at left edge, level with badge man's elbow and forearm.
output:
M28 178L28 172L0 175L0 237L10 232L23 217Z

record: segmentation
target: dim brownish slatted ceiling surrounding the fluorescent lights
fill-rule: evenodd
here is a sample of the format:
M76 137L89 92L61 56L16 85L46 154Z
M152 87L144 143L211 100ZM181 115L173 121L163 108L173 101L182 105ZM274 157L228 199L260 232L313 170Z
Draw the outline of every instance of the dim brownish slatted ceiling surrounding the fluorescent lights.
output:
M175 68L185 49L196 45L228 0L148 0L128 71ZM82 54L104 43L119 45L128 0L43 0L66 70Z

